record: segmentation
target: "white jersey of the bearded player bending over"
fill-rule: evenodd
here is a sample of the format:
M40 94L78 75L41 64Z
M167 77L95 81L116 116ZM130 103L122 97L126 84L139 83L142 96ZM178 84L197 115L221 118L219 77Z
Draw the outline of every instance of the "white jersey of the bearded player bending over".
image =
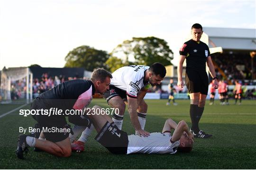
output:
M129 97L137 98L137 93L148 84L143 82L149 66L132 65L117 69L112 73L110 85L126 91Z

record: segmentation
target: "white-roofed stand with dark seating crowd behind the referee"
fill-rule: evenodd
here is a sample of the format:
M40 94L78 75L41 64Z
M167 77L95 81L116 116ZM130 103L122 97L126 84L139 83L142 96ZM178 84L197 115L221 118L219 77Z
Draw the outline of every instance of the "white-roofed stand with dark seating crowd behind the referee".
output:
M223 53L211 54L219 79L229 85L234 85L234 80L256 85L256 59L250 56L256 51L256 30L205 27L204 32L209 36L209 47L223 49Z

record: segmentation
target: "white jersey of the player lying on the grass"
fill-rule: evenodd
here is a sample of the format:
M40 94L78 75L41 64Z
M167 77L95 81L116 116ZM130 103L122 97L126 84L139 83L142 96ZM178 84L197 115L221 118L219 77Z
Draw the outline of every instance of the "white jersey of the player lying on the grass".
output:
M170 153L174 154L177 152L177 147L180 141L171 143L170 133L151 133L150 136L140 137L138 135L128 136L128 148L127 154L130 153Z

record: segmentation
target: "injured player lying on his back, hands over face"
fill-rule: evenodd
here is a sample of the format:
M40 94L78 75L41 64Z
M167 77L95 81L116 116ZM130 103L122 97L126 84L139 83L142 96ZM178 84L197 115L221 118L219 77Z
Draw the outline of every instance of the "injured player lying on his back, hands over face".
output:
M100 108L99 106L94 106ZM101 109L101 108L100 108ZM172 120L165 121L162 133L150 133L150 136L127 135L119 130L108 115L90 116L98 135L95 140L106 147L111 153L176 153L190 152L193 145L193 134L185 121L180 121L178 125ZM174 134L171 136L171 129Z

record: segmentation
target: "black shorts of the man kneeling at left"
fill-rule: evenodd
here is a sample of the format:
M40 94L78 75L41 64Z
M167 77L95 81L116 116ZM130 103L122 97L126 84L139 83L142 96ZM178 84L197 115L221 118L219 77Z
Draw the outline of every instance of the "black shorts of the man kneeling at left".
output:
M31 110L45 109L41 106L38 106L35 102L32 102L30 108ZM44 129L49 129L53 127L63 129L64 126L67 125L67 121L64 116L33 115L33 118L37 120L40 127ZM46 140L55 143L55 142L60 142L66 139L69 136L69 133L44 131L44 135L46 137Z

